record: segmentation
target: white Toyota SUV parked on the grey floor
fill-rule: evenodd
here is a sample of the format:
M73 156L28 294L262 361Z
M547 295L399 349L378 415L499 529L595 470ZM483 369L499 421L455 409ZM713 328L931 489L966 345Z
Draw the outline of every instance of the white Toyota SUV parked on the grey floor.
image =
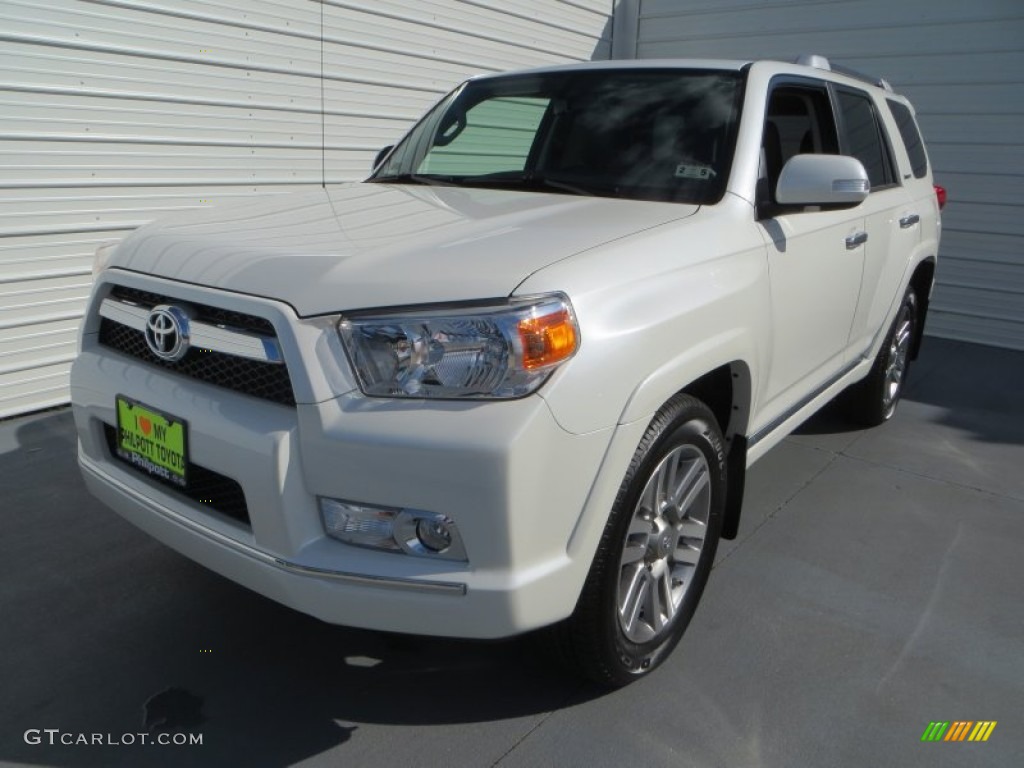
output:
M896 407L939 242L906 99L820 57L469 80L362 183L97 254L90 490L327 622L652 670L743 475Z

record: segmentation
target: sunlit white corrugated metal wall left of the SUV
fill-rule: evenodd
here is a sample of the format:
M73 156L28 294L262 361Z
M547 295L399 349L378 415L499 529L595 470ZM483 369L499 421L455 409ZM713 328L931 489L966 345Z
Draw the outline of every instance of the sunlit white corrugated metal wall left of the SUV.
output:
M467 75L606 58L610 10L0 0L0 417L67 401L98 244L168 211L364 176Z

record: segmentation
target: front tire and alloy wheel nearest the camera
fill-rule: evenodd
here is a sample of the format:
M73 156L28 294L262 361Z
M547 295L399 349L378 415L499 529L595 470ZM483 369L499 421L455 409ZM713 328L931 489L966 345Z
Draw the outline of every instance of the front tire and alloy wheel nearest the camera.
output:
M575 611L552 630L561 660L577 672L603 685L627 685L679 642L718 548L724 444L714 415L689 395L673 397L651 421Z

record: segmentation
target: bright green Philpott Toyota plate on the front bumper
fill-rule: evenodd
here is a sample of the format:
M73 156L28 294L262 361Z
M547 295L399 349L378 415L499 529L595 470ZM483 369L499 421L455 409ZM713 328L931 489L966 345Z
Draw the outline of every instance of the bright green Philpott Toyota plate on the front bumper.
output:
M146 474L183 486L188 452L185 422L117 396L118 456Z

